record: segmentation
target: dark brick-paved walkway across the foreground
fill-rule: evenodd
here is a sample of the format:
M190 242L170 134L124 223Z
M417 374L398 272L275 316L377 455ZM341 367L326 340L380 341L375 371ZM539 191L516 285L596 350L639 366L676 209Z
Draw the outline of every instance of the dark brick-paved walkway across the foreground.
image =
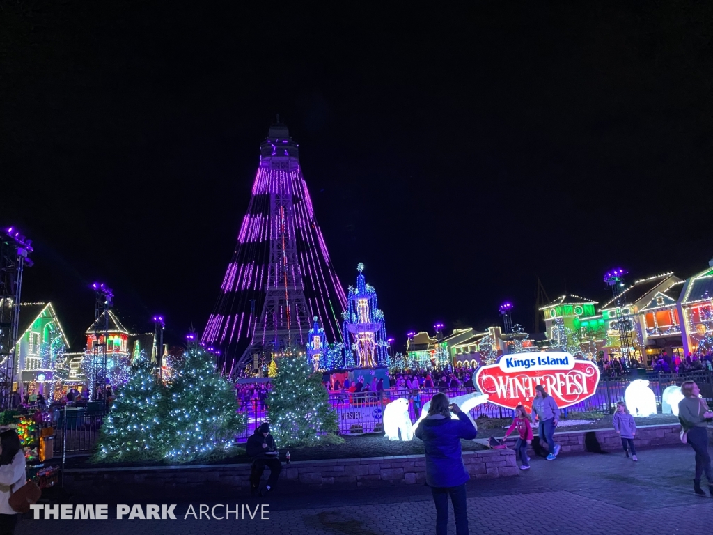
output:
M531 535L533 533L611 535L684 535L711 531L713 499L693 494L693 452L689 447L643 450L640 461L622 454L560 456L555 462L533 459L520 477L472 481L468 486L471 533L477 535ZM399 486L361 491L320 490L309 494L275 494L265 499L269 520L183 519L188 504L250 504L246 496L210 491L180 499L156 496L139 499L142 489L117 489L113 496L78 498L76 503L176 503L178 520L50 521L23 519L19 535L45 529L63 532L98 530L103 535L420 535L433 534L435 511L424 486ZM122 498L129 491L133 498ZM259 516L259 515L258 515ZM449 534L455 534L451 519Z

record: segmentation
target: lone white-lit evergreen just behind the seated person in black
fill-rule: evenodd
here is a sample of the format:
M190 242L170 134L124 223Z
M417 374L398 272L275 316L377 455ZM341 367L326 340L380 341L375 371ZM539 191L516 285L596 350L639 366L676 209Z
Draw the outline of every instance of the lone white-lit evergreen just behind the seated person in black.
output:
M279 357L277 376L267 397L270 428L279 446L341 442L337 414L329 404L322 373L307 358L287 350Z

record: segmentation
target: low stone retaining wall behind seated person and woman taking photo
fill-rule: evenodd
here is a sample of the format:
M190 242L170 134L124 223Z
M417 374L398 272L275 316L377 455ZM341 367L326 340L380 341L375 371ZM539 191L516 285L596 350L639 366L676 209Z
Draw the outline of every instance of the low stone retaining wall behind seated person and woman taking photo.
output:
M463 452L466 469L473 479L495 479L518 474L515 452L511 449ZM263 479L269 470L265 469ZM250 465L214 464L192 467L137 467L67 469L65 485L76 493L101 492L113 487L139 484L157 489L202 486L206 484L232 487L248 491ZM424 484L426 458L424 455L399 457L371 457L367 459L333 459L282 464L280 486L299 490L322 486L352 488L389 485Z

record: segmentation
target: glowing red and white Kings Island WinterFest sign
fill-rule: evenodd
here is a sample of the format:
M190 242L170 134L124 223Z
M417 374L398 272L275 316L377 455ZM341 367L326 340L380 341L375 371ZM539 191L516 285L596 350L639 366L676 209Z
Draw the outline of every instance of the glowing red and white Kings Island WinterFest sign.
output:
M542 352L503 355L496 364L481 366L476 372L476 385L488 394L488 402L508 409L518 404L530 407L538 384L558 407L569 407L595 394L599 368L570 353Z

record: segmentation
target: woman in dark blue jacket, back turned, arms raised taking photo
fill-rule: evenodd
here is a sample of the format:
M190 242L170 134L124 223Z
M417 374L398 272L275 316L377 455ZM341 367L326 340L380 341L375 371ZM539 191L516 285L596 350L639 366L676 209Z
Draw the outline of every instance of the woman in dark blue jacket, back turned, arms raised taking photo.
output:
M451 419L451 410L458 419ZM478 434L471 419L460 407L450 404L439 392L431 399L428 416L416 427L416 437L426 447L426 484L431 487L436 504L436 535L448 532L448 495L456 516L456 534L468 535L466 481L471 479L463 463L461 439L474 439Z

